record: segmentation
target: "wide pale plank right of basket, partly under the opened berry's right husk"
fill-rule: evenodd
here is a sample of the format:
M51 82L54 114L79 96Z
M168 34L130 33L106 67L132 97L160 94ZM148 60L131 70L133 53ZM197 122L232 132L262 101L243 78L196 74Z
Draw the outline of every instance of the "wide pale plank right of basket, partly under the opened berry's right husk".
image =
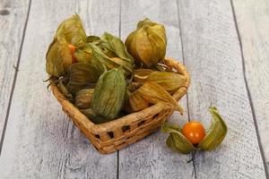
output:
M198 154L197 178L265 178L230 1L178 2L190 117L208 126L213 105L229 127L221 147Z

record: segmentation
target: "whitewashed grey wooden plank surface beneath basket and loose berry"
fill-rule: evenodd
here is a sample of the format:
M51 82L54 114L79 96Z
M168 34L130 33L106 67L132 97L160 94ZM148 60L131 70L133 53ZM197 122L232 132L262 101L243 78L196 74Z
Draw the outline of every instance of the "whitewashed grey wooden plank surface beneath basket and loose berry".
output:
M156 132L100 155L43 82L48 44L73 13L87 34L123 39L144 17L163 23L167 56L191 74L186 113L169 122L208 126L214 105L229 127L221 147L186 163L191 155L170 151ZM269 178L268 24L265 0L1 1L0 178Z

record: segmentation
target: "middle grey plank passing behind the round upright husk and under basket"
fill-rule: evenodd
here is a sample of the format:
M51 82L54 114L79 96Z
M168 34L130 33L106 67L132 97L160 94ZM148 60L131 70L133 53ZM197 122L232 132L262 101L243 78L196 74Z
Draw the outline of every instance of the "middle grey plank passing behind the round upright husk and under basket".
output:
M178 10L176 1L122 1L121 37L135 30L136 23L148 17L159 21L166 27L168 47L167 56L182 60L182 49L178 30ZM186 98L181 101L186 108L185 115L172 115L170 123L187 121ZM156 132L119 152L119 178L195 178L194 166L184 161L190 155L178 155L165 144L166 134Z

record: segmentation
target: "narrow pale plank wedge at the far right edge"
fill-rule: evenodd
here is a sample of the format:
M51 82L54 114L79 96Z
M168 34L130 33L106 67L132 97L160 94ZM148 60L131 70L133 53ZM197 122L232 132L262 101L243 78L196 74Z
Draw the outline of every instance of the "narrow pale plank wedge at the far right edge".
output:
M269 4L265 0L233 1L233 4L242 42L247 84L269 170Z

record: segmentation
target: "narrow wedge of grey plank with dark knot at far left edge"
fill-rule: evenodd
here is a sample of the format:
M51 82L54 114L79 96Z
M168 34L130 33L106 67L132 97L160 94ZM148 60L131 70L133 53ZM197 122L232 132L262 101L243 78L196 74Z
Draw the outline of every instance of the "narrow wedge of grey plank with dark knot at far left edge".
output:
M20 55L28 9L28 0L3 0L0 2L0 136L3 132L4 119L13 89L16 72L14 66Z

